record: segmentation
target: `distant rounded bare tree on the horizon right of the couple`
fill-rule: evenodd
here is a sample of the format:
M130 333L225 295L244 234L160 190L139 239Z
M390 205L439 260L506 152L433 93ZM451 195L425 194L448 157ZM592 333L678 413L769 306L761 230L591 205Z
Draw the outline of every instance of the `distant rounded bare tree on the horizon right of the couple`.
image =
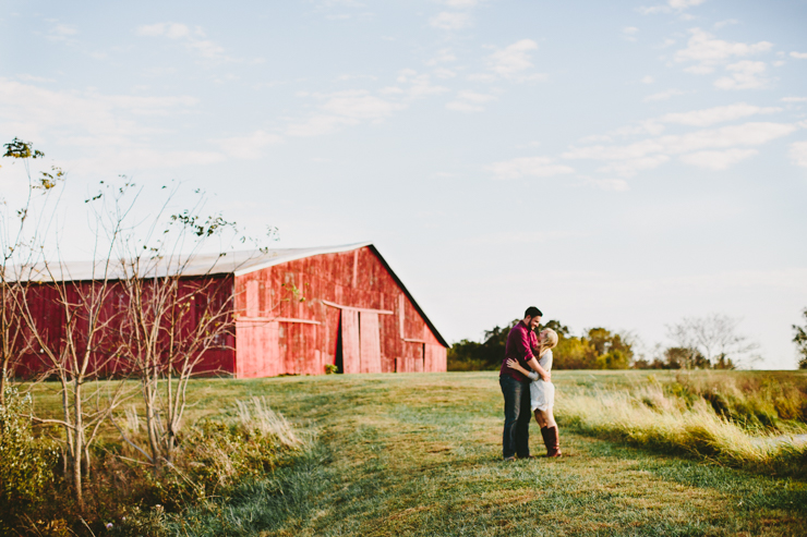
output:
M689 351L687 367L692 367L698 355L712 366L730 367L758 359L751 353L759 345L737 333L740 319L723 314L706 317L685 317L667 326L667 337L680 349Z

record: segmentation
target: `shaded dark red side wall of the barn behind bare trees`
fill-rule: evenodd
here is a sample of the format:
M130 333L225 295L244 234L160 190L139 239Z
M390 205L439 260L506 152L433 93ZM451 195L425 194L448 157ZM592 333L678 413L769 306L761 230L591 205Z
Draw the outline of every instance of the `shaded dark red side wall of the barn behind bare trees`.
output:
M206 303L213 303L213 309L225 305L232 296L233 277L231 274L222 277L212 277L209 280L204 278L189 278L180 282L181 289L184 292L191 292L198 284L207 284L207 289L204 293L200 293L194 300L193 307L191 308L192 314L188 317L190 324L188 330L191 330L198 326L201 317L205 314ZM88 296L92 286L95 285L98 289L101 283L99 282L68 282L65 284L68 300L71 304L82 304L83 296ZM37 330L44 335L44 339L48 342L48 346L53 350L64 349L64 338L67 337L65 331L65 310L60 303L59 292L56 285L52 283L33 284L27 290L26 301L31 309L32 317L36 324ZM116 349L117 342L119 341L121 329L121 313L127 306L127 294L121 288L119 282L109 282L106 300L101 306L101 319L108 320L108 327L100 331L94 342L96 351L92 355L93 364L98 364L101 361L108 362L104 375L111 375L115 373L121 373L125 369L124 364L118 364L109 362L110 351ZM88 332L88 320L87 310L85 308L79 309L76 315L76 343L79 351L86 349L86 335ZM29 333L29 332L28 332ZM49 366L43 358L44 356L39 352L39 347L35 347L32 352L25 354L15 371L17 376L29 377L33 374L41 373ZM94 369L95 365L91 366ZM201 362L196 366L196 371L200 374L215 375L220 373L233 373L234 368L234 334L225 333L221 334L218 341L215 342L215 346L209 349L202 356Z

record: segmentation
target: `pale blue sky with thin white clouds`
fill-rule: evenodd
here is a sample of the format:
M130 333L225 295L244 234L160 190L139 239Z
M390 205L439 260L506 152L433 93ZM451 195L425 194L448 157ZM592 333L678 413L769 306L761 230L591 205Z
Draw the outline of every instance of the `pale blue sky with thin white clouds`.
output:
M174 181L277 247L372 241L450 342L723 314L796 365L805 0L2 3L0 141L68 171L72 258L98 181Z

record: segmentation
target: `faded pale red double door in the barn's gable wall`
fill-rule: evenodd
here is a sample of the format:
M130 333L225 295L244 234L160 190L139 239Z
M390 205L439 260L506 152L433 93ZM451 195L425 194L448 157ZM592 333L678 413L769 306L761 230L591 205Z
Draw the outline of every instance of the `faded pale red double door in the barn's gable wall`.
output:
M342 308L341 358L344 373L381 373L378 314Z

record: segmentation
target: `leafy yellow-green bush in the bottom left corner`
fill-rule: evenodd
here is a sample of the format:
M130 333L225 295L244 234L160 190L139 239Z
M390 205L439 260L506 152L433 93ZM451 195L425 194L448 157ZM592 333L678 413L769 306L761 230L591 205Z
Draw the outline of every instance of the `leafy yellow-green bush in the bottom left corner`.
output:
M32 512L53 483L57 451L34 437L29 414L31 396L9 387L0 405L0 528Z

